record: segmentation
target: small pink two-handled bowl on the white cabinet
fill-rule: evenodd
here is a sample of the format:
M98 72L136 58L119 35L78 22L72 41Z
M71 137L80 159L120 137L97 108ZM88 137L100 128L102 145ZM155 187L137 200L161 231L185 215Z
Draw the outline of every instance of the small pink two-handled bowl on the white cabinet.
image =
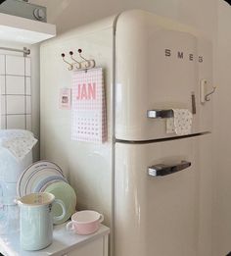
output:
M95 211L85 210L74 213L71 222L67 224L67 230L78 234L89 234L99 230L104 216Z

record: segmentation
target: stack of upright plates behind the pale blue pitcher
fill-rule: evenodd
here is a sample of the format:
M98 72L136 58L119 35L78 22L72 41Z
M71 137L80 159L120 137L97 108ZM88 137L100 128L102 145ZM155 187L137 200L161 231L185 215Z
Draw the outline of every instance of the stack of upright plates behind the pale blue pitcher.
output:
M39 161L26 168L18 180L17 192L20 197L29 193L50 192L57 199L62 200L67 213L61 221L55 224L66 222L75 212L75 192L65 178L62 169L50 161ZM60 216L62 210L58 205L54 205L52 212L55 216Z

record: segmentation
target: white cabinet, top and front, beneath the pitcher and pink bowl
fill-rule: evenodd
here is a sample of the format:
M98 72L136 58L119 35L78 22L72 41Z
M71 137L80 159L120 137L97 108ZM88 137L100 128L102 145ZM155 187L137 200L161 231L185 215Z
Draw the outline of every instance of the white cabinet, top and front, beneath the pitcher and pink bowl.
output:
M4 256L108 256L110 229L101 225L100 230L89 235L78 235L66 230L66 224L56 226L53 242L39 251L24 251L20 235L0 235L0 253ZM17 234L17 235L16 235Z

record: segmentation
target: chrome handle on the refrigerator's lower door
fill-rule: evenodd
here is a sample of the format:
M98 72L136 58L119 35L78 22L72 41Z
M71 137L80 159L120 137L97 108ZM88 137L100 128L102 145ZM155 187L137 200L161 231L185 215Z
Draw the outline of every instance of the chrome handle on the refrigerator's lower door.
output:
M149 176L153 176L153 177L168 176L176 172L182 171L190 166L191 166L191 163L187 161L181 161L180 164L174 165L174 166L159 164L159 165L149 167L148 174Z

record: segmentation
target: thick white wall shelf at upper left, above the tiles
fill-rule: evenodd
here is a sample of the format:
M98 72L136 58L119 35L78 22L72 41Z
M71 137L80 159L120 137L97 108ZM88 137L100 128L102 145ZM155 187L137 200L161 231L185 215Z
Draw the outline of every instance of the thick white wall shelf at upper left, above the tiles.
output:
M56 26L0 13L0 40L38 43L56 36Z

